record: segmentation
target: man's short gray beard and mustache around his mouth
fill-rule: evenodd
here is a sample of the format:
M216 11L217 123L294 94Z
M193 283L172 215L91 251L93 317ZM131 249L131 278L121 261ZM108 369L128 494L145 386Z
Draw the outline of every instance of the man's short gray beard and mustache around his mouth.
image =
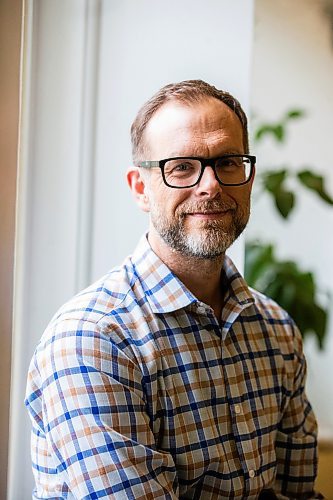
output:
M223 204L207 202L200 206L204 210L218 208L223 208ZM188 234L185 228L186 212L170 221L157 207L151 210L151 221L163 241L173 250L188 257L213 260L223 255L234 243L244 231L249 218L249 213L239 213L239 207L224 208L233 210L233 219L227 230L219 220L206 220L198 232Z

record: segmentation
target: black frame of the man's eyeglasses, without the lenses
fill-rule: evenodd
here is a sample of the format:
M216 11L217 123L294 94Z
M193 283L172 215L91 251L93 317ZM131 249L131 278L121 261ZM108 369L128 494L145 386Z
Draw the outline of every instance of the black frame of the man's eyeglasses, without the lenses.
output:
M248 179L244 182L239 182L237 184L226 184L222 182L216 173L216 163L218 160L224 160L226 158L235 158L241 156L242 158L247 158L250 160L251 163L251 170L250 170L250 175ZM198 180L194 184L190 184L189 186L171 186L171 184L168 184L166 178L165 178L165 173L164 173L164 167L165 164L170 161L170 160L198 160L200 161L201 164L201 172L199 174ZM211 167L213 169L215 179L221 186L243 186L244 184L247 184L250 182L250 180L253 177L253 172L254 172L254 167L256 164L257 158L253 155L247 155L247 154L228 154L228 155L222 155L222 156L216 156L215 158L202 158L200 156L175 156L173 158L165 158L164 160L147 160L147 161L141 161L138 166L142 168L154 168L154 167L159 167L162 172L162 178L163 182L166 186L171 187L173 189L188 189L191 187L196 186L199 184L201 181L201 178L203 176L204 170L206 167Z

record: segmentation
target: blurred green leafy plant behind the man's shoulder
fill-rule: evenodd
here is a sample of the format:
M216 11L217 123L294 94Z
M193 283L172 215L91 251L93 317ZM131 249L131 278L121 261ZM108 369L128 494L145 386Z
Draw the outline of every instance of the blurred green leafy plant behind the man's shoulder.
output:
M290 121L302 118L304 114L303 110L293 109L279 122L260 124L255 130L255 142L271 136L282 144L286 140ZM288 187L291 178L314 192L323 202L333 205L324 178L313 168L297 172L288 167L274 168L265 170L257 177L259 189L273 198L277 212L284 219L293 211L297 199L297 194ZM328 313L317 301L318 286L312 272L301 270L296 262L279 260L272 244L257 241L246 244L245 278L250 286L278 302L295 320L303 336L312 332L318 346L323 348Z

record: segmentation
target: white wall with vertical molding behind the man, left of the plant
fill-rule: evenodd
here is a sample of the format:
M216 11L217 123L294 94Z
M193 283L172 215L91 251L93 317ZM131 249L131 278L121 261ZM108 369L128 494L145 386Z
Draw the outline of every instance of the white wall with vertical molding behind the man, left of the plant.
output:
M22 401L33 349L61 303L119 263L147 225L124 181L134 114L185 78L248 107L252 10L249 0L26 2L11 500L32 489Z

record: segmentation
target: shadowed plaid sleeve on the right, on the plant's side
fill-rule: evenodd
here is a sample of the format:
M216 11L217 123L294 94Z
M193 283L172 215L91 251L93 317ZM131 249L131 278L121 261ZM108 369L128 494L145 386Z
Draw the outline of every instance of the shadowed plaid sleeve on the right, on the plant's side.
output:
M276 437L279 499L324 498L314 492L317 475L317 422L305 394L306 361L302 337L295 325L292 353L292 390Z

